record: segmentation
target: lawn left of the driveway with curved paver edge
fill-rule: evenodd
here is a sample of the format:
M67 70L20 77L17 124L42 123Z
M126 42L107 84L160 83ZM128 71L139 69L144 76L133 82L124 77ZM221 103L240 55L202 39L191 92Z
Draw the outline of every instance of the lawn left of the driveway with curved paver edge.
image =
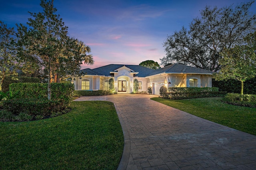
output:
M0 169L116 169L123 147L111 102L72 102L58 117L0 122Z

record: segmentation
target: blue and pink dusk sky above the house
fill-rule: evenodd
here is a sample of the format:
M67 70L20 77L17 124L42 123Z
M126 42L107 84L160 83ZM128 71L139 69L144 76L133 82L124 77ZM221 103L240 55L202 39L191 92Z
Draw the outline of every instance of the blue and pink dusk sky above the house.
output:
M188 28L206 5L238 5L250 0L54 0L68 33L92 49L96 68L107 64L139 64L165 56L167 35ZM29 12L42 11L40 0L1 2L0 20L8 27L26 24ZM250 8L256 13L256 2Z

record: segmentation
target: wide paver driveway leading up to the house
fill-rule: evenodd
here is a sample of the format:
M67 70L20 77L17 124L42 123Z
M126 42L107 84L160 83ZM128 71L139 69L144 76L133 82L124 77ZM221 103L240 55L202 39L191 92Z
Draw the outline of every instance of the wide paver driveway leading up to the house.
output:
M256 170L256 136L160 104L154 95L81 97L113 102L124 131L120 170Z

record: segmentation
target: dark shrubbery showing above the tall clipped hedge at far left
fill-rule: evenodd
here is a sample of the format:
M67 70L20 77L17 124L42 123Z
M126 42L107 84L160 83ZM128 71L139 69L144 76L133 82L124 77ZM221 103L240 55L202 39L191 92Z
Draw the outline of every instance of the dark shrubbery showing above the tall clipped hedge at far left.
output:
M7 92L9 90L9 85L11 83L39 83L40 80L35 77L11 77L7 76L2 84L2 92Z

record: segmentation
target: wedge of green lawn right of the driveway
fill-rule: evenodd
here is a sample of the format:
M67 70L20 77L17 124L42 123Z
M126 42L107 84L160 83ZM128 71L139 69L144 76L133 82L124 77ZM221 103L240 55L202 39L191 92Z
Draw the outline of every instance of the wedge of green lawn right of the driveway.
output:
M256 135L256 108L226 104L221 102L221 99L222 98L197 98L168 100L152 98L152 100L186 111L192 115Z

